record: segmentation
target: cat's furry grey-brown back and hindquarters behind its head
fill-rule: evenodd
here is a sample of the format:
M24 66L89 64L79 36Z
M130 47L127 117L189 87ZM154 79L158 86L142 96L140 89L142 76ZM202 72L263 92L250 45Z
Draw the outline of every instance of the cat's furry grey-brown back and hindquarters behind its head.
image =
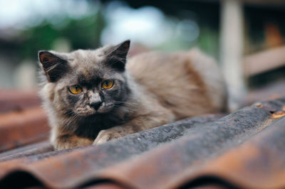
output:
M226 107L227 92L217 64L197 49L135 55L128 60L127 70L177 119Z

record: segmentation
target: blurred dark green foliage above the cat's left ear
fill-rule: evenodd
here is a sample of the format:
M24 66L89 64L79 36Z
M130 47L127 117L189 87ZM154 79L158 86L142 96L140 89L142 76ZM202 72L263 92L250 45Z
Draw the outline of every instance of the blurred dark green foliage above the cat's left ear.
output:
M65 18L61 26L44 21L20 34L19 37L24 39L19 44L18 54L21 58L34 59L38 50L51 50L58 38L67 38L72 49L96 48L100 45L100 33L104 27L105 20L100 11L80 19Z

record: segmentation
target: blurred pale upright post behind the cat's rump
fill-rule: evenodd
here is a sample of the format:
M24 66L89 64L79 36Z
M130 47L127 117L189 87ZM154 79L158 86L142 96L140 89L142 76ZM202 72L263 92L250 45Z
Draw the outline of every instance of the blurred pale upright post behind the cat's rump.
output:
M229 110L239 109L245 94L243 73L244 27L242 1L223 0L221 12L222 72L227 81Z

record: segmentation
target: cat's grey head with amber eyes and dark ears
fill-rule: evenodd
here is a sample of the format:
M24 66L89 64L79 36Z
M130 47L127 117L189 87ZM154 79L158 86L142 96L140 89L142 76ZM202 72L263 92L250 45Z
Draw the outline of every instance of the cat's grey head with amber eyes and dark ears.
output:
M128 40L97 50L39 51L44 96L65 114L88 117L113 111L130 93L125 75L129 47Z

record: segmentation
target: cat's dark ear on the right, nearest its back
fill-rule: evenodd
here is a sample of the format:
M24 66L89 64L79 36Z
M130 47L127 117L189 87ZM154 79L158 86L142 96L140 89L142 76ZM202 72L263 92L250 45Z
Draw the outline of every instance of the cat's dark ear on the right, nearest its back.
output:
M123 71L127 62L127 55L130 48L130 40L113 46L107 53L107 64L112 68Z

